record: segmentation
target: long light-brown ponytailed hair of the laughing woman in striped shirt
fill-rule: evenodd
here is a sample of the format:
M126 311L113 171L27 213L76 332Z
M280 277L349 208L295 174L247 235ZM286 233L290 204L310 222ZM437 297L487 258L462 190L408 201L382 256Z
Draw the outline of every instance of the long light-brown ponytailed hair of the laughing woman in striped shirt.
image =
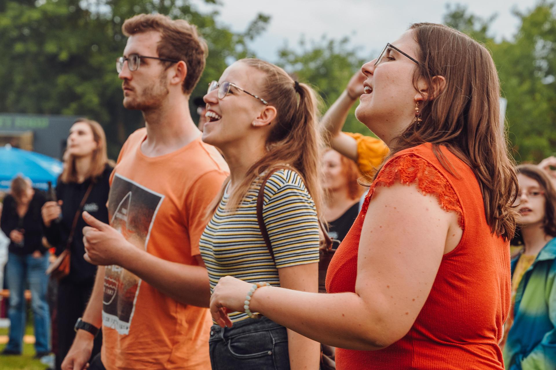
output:
M304 83L295 88L294 80L286 71L264 60L241 59L250 67L266 75L261 84L261 97L276 108L276 118L266 140L267 153L257 160L247 171L244 180L230 197L227 209L236 209L244 199L251 185L264 171L276 165L288 164L305 178L305 186L320 215L322 190L320 186L320 149L322 135L318 124L319 110L314 90ZM261 179L262 180L262 179ZM216 209L229 179L224 182L220 195L212 205L210 213Z

